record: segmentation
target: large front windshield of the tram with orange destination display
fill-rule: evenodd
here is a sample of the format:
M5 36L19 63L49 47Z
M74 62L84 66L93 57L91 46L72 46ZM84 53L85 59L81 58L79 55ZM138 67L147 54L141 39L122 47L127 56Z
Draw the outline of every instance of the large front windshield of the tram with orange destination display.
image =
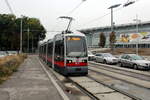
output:
M84 37L68 36L66 37L66 55L68 57L87 56L86 41Z

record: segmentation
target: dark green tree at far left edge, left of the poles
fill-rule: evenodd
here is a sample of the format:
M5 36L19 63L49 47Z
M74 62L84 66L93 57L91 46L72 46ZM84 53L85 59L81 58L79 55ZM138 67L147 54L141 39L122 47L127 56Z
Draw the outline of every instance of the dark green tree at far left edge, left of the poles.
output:
M14 39L13 36L15 34L15 20L16 17L14 15L0 14L0 49L8 50L14 48L13 44L16 43L13 43L12 39Z

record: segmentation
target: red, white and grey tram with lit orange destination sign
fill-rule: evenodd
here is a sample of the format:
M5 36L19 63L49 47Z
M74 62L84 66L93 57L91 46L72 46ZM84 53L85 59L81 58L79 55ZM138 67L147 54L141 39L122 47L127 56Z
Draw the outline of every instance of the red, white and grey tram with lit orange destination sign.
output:
M78 31L56 34L53 39L40 44L39 57L65 76L88 74L86 37Z

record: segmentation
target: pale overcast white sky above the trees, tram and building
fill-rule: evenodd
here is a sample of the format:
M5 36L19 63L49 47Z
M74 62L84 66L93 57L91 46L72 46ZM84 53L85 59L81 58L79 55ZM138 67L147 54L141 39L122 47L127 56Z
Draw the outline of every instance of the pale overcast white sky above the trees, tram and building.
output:
M5 0L0 0L0 14L11 13ZM38 18L44 25L47 38L53 37L55 31L65 30L68 20L60 19L60 16L74 18L71 29L87 29L93 27L110 26L111 5L122 4L114 8L113 21L115 25L135 23L138 16L141 22L150 21L150 0L136 1L134 4L123 7L128 0L7 0L13 13ZM75 9L76 8L76 9Z

